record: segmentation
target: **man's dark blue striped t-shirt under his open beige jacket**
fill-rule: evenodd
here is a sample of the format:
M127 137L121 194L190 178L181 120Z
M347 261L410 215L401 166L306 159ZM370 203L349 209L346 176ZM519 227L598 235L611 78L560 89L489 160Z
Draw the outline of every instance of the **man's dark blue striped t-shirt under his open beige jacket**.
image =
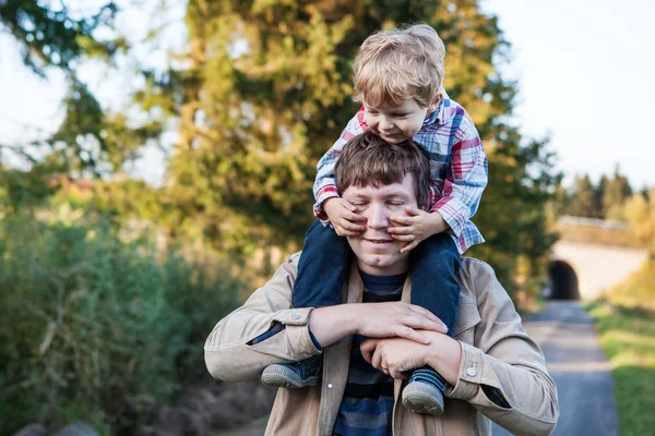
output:
M371 276L359 272L365 303L400 301L407 274ZM372 367L361 356L359 344L366 337L355 335L344 398L338 409L334 435L388 436L392 434L393 378Z

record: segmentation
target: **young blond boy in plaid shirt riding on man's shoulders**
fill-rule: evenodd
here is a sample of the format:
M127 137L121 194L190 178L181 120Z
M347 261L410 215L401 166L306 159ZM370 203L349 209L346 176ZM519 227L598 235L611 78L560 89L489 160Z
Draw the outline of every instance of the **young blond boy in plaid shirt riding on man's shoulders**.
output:
M294 306L342 304L344 275L350 263L345 238L365 230L358 204L338 196L334 165L344 145L366 131L390 146L412 138L430 158L432 185L425 210L407 208L386 231L412 250L412 303L434 313L454 336L461 255L484 242L471 221L487 185L487 158L466 111L443 88L443 43L433 28L419 24L368 37L354 64L355 100L364 107L348 122L318 164L314 215L294 286ZM331 227L327 226L331 223ZM320 344L317 343L320 348ZM270 365L262 383L300 388L314 385L321 356ZM443 412L443 377L430 367L415 370L403 389L403 405L430 414Z

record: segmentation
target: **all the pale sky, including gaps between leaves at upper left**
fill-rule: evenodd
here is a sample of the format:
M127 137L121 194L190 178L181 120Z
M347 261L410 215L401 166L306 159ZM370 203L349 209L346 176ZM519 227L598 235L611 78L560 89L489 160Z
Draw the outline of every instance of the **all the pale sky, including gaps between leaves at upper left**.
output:
M498 16L512 46L503 74L519 83L513 122L527 137L549 135L564 182L583 173L597 181L618 165L633 189L655 186L650 129L655 125L655 2L480 0L480 5ZM176 15L181 17L183 8ZM123 17L139 22L134 19ZM131 84L88 71L103 102L120 105L120 90ZM52 132L63 114L63 93L60 74L36 77L0 33L0 144ZM152 148L135 168L151 182L163 171L162 156Z

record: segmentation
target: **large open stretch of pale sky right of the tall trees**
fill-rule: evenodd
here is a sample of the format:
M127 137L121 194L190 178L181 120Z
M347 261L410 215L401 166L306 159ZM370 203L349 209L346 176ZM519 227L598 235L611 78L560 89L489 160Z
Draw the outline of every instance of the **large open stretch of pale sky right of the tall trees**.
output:
M569 183L583 173L597 181L619 165L633 189L655 186L655 2L481 7L498 16L512 45L507 73L519 81L516 122L526 135L550 134Z

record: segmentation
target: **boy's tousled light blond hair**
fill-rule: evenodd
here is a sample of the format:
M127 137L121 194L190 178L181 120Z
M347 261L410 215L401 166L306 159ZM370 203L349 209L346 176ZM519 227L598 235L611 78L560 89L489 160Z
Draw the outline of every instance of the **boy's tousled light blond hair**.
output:
M414 98L427 108L443 83L444 57L443 41L427 24L373 34L355 58L354 99L380 107Z

